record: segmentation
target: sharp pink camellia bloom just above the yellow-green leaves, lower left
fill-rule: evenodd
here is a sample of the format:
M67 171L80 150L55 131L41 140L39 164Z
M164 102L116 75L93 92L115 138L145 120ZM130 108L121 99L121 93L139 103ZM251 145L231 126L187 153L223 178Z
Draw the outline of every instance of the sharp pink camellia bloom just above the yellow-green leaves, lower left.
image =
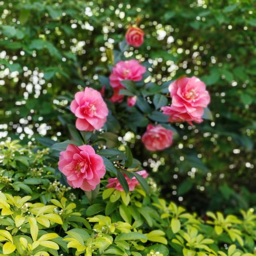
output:
M58 167L71 187L85 191L94 190L106 173L102 157L89 145L69 144L60 152Z

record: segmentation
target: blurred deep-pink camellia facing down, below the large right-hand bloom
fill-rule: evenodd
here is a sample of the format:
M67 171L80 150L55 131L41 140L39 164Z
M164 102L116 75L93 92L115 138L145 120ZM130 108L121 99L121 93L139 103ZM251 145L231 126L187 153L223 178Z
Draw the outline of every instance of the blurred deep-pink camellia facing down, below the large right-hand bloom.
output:
M147 150L163 150L172 144L173 131L163 128L161 125L149 124L142 136L142 142Z

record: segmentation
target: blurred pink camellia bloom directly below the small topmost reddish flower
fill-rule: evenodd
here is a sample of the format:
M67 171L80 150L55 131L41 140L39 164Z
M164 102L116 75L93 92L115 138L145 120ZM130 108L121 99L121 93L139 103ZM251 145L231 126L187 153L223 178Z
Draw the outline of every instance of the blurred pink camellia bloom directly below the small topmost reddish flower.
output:
M125 87L120 83L123 80L140 81L146 68L140 65L136 59L119 61L116 63L113 71L109 77L110 85L113 88L124 89Z

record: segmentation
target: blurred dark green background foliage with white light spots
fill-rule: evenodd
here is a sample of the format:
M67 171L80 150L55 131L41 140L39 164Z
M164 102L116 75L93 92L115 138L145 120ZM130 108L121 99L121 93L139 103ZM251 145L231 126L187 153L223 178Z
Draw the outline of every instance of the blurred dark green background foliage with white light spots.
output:
M0 1L0 139L67 139L62 113L76 91L106 83L109 49L137 20L145 42L125 55L151 63L147 82L198 76L213 120L174 124L164 152L144 149L145 127L117 126L119 140L167 200L199 214L256 208L255 10L254 0Z

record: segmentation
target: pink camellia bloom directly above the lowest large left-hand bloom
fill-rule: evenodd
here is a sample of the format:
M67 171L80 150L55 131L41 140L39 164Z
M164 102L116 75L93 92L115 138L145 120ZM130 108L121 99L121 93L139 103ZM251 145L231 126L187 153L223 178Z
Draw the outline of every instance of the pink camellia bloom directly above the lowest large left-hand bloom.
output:
M99 130L109 113L101 94L89 87L75 94L70 109L77 117L75 126L80 131Z

